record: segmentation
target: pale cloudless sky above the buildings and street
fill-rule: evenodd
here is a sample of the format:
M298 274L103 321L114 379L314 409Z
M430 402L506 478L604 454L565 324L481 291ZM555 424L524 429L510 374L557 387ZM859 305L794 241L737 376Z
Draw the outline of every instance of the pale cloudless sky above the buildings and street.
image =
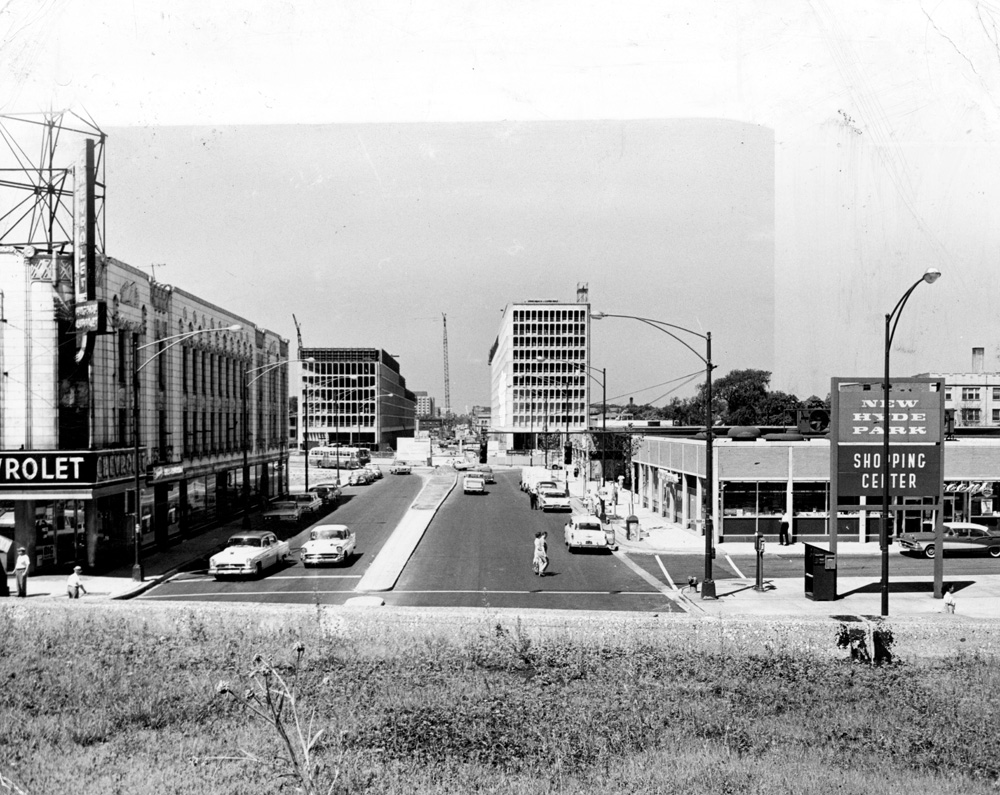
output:
M446 314L457 411L503 306L580 283L805 398L879 375L936 267L894 372L1000 370L995 3L210 6L0 10L0 112L93 117L107 253L160 281L384 348L439 402ZM640 402L702 366L611 319L591 360Z

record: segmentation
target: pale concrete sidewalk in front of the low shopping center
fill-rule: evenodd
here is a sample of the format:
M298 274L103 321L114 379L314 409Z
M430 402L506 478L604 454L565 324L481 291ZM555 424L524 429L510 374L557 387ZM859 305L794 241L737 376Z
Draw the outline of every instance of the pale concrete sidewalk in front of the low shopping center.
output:
M584 502L581 494L583 484L570 481L570 493L575 511L583 512ZM626 492L626 496L628 496ZM639 520L639 538L626 539L625 519L629 515ZM654 555L704 555L705 538L696 532L667 521L648 508L639 505L637 501L628 501L618 505L618 514L610 517L615 528L615 539L618 551L627 556ZM764 590L754 590L756 580L753 571L745 571L749 575L736 578L726 568L720 571L720 563L725 563L726 557L753 557L756 554L752 542L726 542L715 547L714 571L716 574L715 599L702 599L697 592L683 587L687 585L675 582L677 596L688 606L692 615L712 616L717 618L735 617L740 615L757 616L878 616L881 612L881 591L878 575L873 577L839 577L837 579L837 595L835 601L814 601L805 595L805 564L802 564L802 576L783 579L764 579ZM803 560L805 545L796 542L788 547L769 544L765 550L768 554L780 554L785 558L795 557ZM898 548L890 551L898 555ZM863 544L856 541L839 541L837 556L867 556L879 559L881 550L878 544ZM988 621L1000 619L1000 563L995 575L976 575L974 577L949 578L947 574L948 559L945 561L945 581L955 583L956 615L945 613L944 603L933 596L934 577L907 577L905 581L889 583L889 614L890 616L939 617L940 620L955 618L974 618ZM766 570L766 569L765 569ZM675 573L676 574L676 573ZM702 579L704 570L699 570L697 576ZM663 584L666 578L660 578Z

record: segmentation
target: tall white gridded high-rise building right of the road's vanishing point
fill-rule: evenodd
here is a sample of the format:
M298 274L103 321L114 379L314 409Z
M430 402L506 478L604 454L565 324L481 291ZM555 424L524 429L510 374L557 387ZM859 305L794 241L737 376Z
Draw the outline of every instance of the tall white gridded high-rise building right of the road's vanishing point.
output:
M501 447L554 447L588 426L590 304L523 301L503 311L490 350L492 433Z

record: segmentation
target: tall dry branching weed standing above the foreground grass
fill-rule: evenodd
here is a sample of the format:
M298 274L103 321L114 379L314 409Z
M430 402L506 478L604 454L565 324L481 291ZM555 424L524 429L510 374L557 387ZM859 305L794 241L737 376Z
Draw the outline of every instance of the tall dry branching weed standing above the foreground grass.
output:
M298 679L304 654L305 645L297 643L295 662L288 678L282 676L275 666L257 655L253 661L254 667L246 675L250 687L239 693L231 682L223 680L216 686L216 692L229 696L253 717L274 729L287 754L278 755L273 760L277 763L279 778L291 778L298 783L305 795L316 795L321 791L320 780L329 771L313 756L324 733L323 729L314 731L315 710L310 713L308 721L300 714ZM270 767L267 760L246 749L240 749L240 753L242 756L237 757L239 759L262 767ZM328 793L334 791L339 777L338 768L333 771L333 781L327 789Z

